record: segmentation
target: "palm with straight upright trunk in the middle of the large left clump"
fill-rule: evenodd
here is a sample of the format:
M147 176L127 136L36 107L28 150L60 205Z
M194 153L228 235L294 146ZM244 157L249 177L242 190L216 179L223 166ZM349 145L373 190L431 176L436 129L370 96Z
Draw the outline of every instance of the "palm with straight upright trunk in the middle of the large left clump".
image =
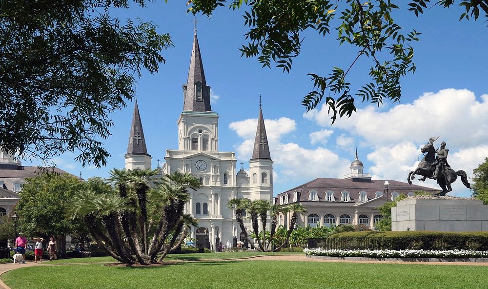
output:
M142 235L142 247L145 255L148 255L148 246L147 246L147 191L149 187L154 183L156 180L154 176L158 174L158 169L136 169L131 170L132 180L131 182L134 183L134 187L137 194L137 201L139 204L139 208L141 209L141 218L139 220L141 235Z

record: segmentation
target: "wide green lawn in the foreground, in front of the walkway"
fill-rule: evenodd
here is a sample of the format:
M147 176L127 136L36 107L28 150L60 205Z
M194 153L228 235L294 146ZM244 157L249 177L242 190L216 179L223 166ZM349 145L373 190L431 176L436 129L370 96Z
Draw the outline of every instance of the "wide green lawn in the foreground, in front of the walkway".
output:
M209 261L146 268L35 266L2 275L12 289L484 289L485 266Z

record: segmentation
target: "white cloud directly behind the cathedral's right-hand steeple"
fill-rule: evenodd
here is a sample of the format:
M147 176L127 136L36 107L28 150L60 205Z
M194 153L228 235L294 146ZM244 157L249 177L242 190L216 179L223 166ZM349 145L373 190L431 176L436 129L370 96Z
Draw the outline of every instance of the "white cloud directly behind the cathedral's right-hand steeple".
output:
M235 146L239 159L251 158L257 122L257 119L246 119L229 124L229 128L244 139L241 144ZM350 161L340 158L326 148L306 149L299 144L284 141L286 134L296 129L294 120L282 117L277 120L264 120L264 124L274 162L275 183L295 182L294 185L298 185L297 181L310 181L318 177L340 177L349 172Z

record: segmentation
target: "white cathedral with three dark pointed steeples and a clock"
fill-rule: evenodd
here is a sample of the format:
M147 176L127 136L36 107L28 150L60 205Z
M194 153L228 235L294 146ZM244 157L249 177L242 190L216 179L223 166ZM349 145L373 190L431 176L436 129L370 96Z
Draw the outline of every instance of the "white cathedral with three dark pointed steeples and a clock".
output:
M158 168L162 174L179 170L200 178L201 188L190 191L191 199L186 204L186 212L200 220L199 227L192 228L191 237L197 239L197 245L215 248L217 236L222 244L227 241L232 243L234 234L238 239L242 238L234 210L227 208L229 199L273 199L273 161L269 153L263 112L260 105L248 175L242 166L237 171L235 152L219 151L219 115L210 106L210 86L207 86L205 80L196 30L183 95L183 111L177 121L178 149L167 149L165 163ZM137 102L125 155L125 168L152 168ZM244 222L248 222L244 224L250 227L250 221Z

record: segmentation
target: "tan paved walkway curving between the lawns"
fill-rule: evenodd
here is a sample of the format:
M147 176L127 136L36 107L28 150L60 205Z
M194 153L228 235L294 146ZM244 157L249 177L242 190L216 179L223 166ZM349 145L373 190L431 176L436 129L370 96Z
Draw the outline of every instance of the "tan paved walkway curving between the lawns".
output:
M306 258L305 255L272 255L272 256L252 256L248 258L240 259L213 259L213 260L199 260L199 261L172 261L171 263L180 262L226 262L226 261L299 261L299 262L343 262L343 263L370 263L370 264L408 264L408 265L463 265L463 266L488 266L488 263L474 263L474 262L401 262L401 261L349 261L349 260L323 260L323 259L311 259ZM60 265L87 265L87 264L102 264L102 263L70 263L70 264L49 264L49 261L44 261L42 263L34 263L34 261L26 261L25 264L12 264L4 263L0 264L0 276L1 274L23 267L32 266L60 266ZM168 262L169 263L169 262ZM0 279L0 289L11 289Z

